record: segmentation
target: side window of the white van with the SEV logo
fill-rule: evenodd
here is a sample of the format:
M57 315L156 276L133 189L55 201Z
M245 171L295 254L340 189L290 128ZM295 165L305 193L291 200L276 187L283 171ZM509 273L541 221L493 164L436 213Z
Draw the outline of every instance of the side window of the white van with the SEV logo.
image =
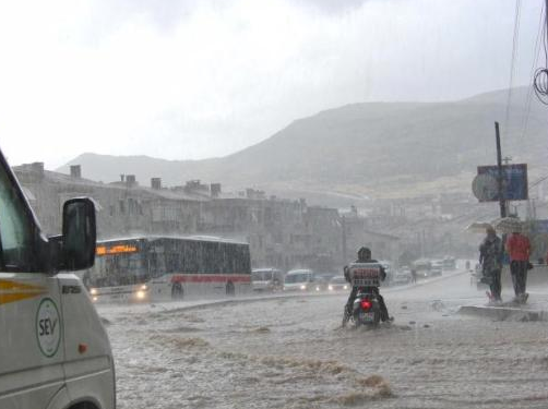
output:
M35 266L33 229L5 170L0 167L0 267L2 270L29 270Z

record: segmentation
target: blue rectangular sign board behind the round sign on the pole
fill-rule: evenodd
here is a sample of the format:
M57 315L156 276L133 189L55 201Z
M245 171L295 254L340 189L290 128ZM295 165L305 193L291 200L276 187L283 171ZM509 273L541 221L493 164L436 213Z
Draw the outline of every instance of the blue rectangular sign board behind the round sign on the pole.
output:
M498 166L478 166L478 175L488 175L499 180ZM527 189L527 164L502 165L502 192L505 201L526 201ZM499 201L496 192L491 201Z

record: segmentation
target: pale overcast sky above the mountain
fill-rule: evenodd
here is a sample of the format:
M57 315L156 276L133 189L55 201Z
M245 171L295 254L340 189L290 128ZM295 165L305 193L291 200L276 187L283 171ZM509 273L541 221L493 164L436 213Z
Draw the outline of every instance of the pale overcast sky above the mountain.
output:
M525 0L514 85L544 0ZM319 110L508 87L515 0L0 3L0 146L12 165L84 152L224 156Z

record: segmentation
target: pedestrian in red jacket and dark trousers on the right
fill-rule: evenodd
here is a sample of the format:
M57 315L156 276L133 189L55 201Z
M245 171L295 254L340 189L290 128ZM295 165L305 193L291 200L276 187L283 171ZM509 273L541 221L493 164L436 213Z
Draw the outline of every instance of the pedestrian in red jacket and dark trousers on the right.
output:
M507 239L507 252L510 255L510 273L514 285L514 301L525 303L528 294L525 292L527 285L527 269L529 266L531 242L521 233L520 228Z

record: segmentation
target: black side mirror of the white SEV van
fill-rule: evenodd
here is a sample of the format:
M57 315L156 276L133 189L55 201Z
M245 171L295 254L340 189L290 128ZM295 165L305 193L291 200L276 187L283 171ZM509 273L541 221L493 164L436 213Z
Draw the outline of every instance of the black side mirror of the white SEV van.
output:
M71 199L63 204L62 267L85 269L95 262L95 205L91 199Z

